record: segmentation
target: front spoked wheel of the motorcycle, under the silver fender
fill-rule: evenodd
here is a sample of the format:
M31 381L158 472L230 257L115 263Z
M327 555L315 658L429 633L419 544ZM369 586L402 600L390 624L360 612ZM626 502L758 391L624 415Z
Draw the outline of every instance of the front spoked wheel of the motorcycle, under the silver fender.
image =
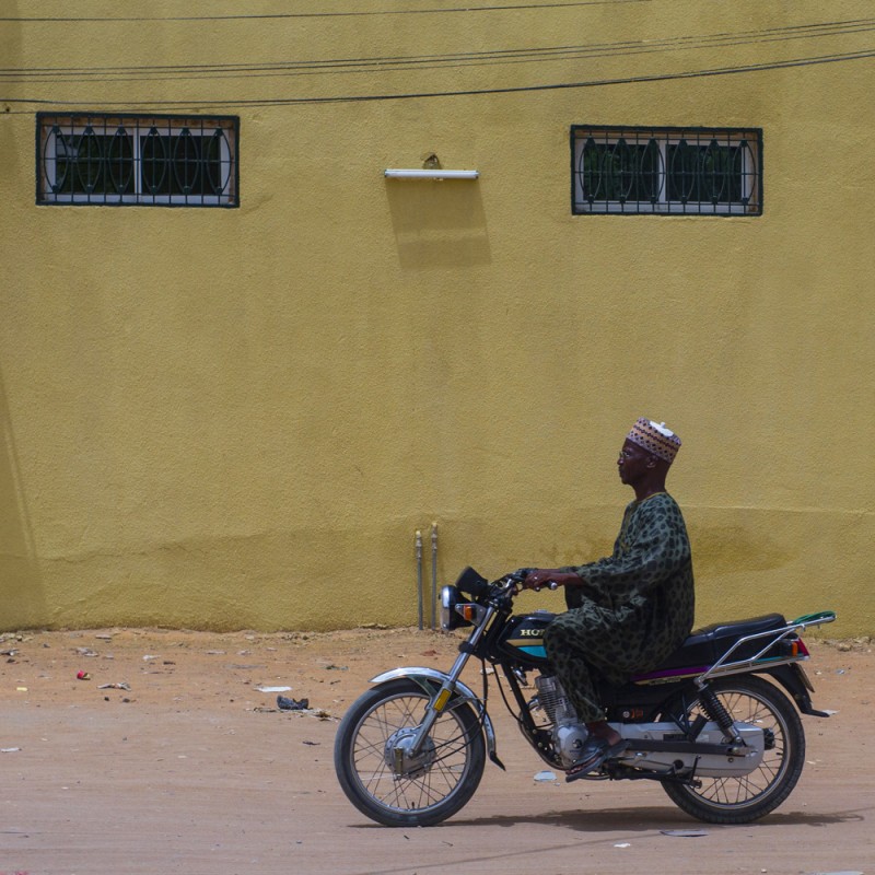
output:
M412 752L431 697L415 681L390 680L361 696L335 739L335 769L350 802L390 827L431 826L454 815L483 774L486 745L467 703L452 703Z

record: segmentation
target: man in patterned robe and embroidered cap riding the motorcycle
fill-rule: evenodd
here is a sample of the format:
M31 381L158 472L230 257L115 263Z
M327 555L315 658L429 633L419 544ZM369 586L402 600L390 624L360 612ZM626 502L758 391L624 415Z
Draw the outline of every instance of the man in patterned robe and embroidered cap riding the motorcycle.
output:
M593 673L615 684L655 668L689 634L693 617L690 544L684 517L665 491L680 439L665 423L639 419L617 460L635 499L611 556L585 565L535 569L526 588L565 587L569 610L545 630L547 656L586 724L588 737L567 779L598 769L627 743L605 720Z

